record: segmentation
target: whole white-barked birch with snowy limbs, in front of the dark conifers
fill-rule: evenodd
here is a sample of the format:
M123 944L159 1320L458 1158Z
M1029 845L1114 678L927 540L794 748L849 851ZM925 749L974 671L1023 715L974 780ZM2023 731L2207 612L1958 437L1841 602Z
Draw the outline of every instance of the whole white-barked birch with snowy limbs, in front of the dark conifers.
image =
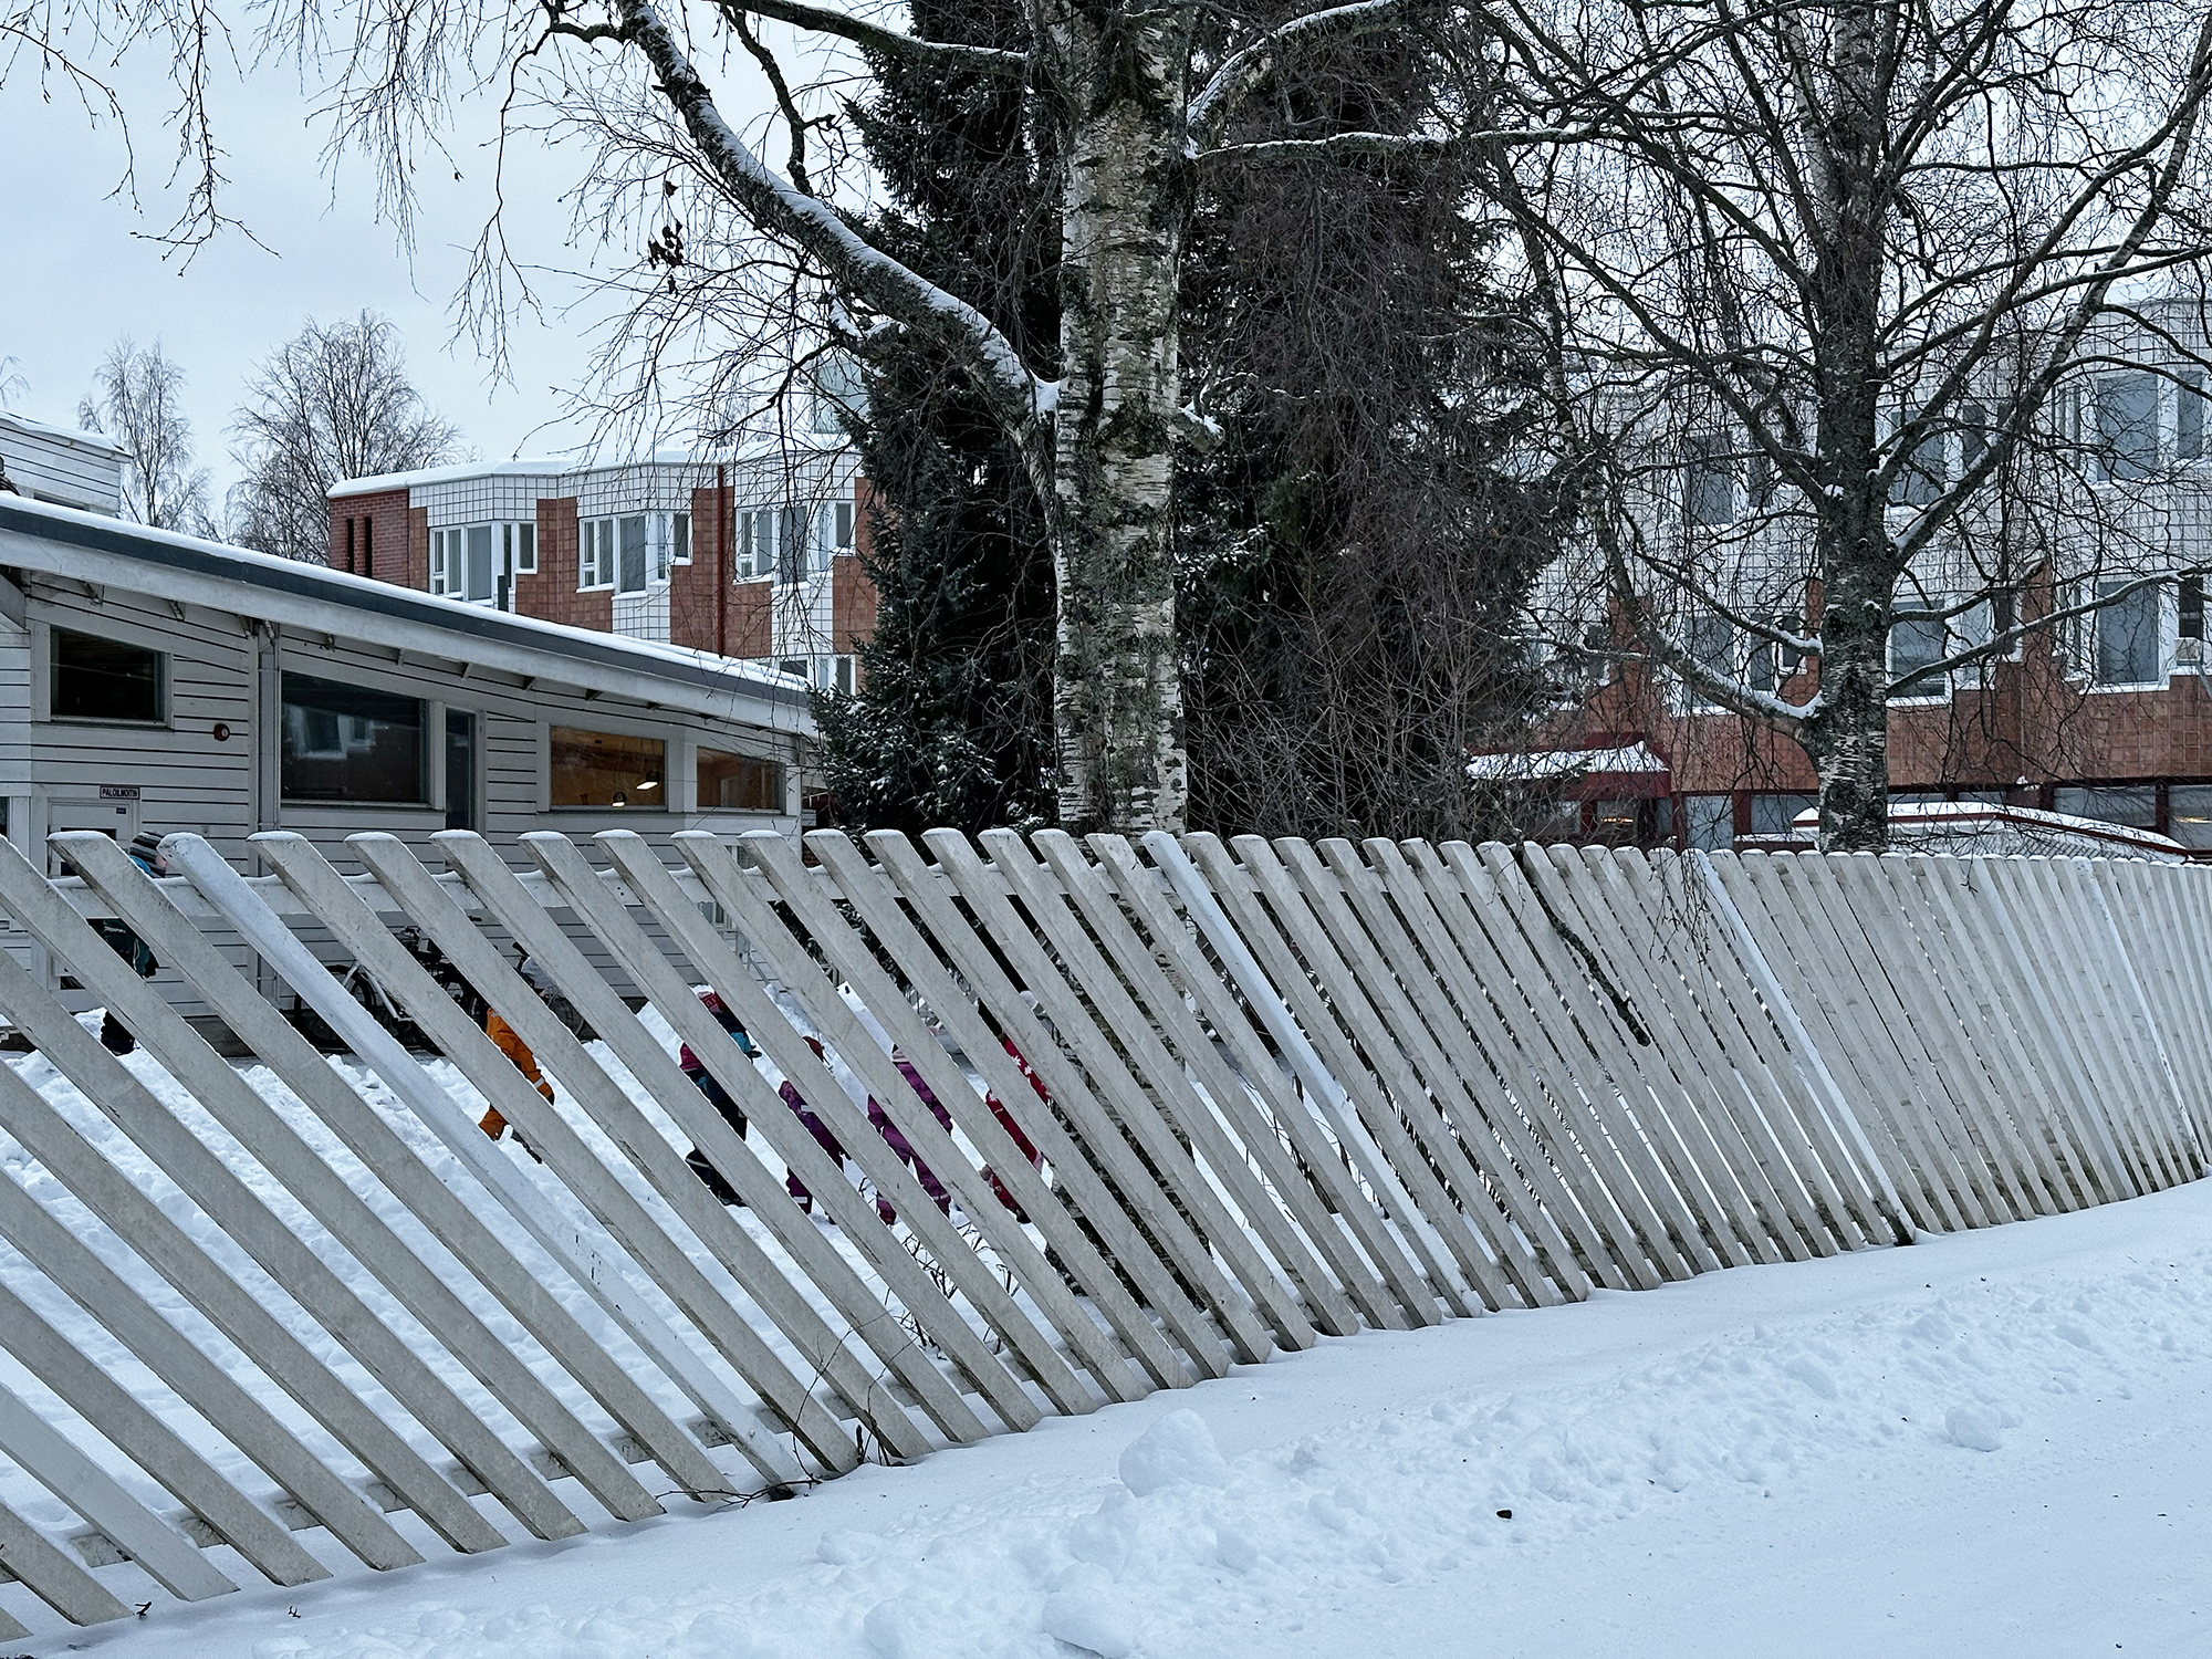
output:
M650 204L641 270L655 290L666 281L670 310L708 305L728 292L730 272L761 270L768 248L801 288L830 296L821 316L832 334L891 327L942 345L1020 447L1048 520L1060 818L1086 830L1181 827L1170 451L1179 434L1206 431L1177 352L1190 204L1223 166L1433 144L1433 133L1310 139L1294 124L1263 142L1228 142L1225 133L1234 117L1263 108L1276 64L1307 44L1425 29L1440 15L1429 0L1354 0L1287 20L1237 7L1037 0L1013 44L960 44L807 0L743 9L425 0L358 11L336 106L341 135L385 146L389 177L403 181L409 135L436 117L449 60L462 42L478 42L482 58L491 51L482 42L500 40L511 62L553 64L546 73L564 77L544 104L549 119L599 111L593 179L606 199L628 192ZM785 51L792 69L772 51L763 20L799 42ZM299 20L294 33L312 38ZM823 49L841 55L825 66ZM867 239L856 181L838 168L834 106L836 86L865 73L858 53L1004 77L1022 88L1026 119L1051 131L1037 146L1055 159L1040 188L1057 192L1062 226L1062 325L1048 349L1024 354L975 294L927 281ZM781 113L781 133L759 144L710 80L734 80L734 62L765 75ZM681 199L675 177L695 184ZM670 192L666 210L659 188ZM752 248L739 252L734 234L710 237L717 219L745 228ZM487 248L495 276L498 239ZM717 248L714 259L701 257ZM717 325L734 347L750 323L723 314Z

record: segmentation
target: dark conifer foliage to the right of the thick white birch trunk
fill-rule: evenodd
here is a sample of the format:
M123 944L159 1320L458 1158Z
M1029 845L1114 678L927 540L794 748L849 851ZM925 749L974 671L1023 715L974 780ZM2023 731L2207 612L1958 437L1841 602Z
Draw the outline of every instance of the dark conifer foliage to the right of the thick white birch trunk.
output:
M1442 75L1422 44L1347 42L1250 119L1416 131ZM1486 234L1436 155L1252 166L1197 208L1183 363L1223 436L1177 498L1192 825L1495 827L1467 752L1540 699L1520 633L1562 491Z

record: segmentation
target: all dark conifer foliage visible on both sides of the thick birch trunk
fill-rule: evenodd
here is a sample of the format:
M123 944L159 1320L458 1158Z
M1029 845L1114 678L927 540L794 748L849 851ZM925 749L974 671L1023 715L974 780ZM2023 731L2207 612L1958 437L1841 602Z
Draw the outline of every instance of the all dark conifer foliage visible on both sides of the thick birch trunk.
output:
M1002 0L914 29L1022 44ZM854 111L891 208L872 232L1024 343L1060 330L1053 157L1006 80L876 66ZM1279 75L1243 126L1411 133L1444 64L1347 42ZM1232 133L1230 137L1237 137ZM1489 285L1464 177L1438 155L1256 161L1201 195L1183 385L1219 442L1177 451L1190 823L1223 834L1478 834L1469 748L1535 703L1517 619L1553 546L1520 319ZM825 699L852 825L1048 823L1051 546L1015 447L940 352L863 349L854 422L883 611L858 697ZM1524 467L1526 473L1526 467Z

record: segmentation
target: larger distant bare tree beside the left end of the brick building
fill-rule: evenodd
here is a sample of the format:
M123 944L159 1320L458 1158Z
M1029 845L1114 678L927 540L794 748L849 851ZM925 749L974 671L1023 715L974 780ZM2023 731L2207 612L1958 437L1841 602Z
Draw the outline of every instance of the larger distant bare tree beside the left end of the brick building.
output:
M330 487L345 478L438 467L460 434L422 403L389 316L307 321L246 385L232 420L246 478L230 491L241 546L321 564L330 551Z

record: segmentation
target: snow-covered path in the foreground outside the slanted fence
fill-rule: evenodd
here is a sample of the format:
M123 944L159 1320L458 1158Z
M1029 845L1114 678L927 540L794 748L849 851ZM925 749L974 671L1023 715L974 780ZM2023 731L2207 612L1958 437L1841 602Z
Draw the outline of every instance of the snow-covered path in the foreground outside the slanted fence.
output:
M1135 1484L1219 1484L1133 1495L1117 1462L1146 1431L1168 1455L1133 1458ZM1051 1626L1144 1659L2197 1655L2208 1480L2199 1181L1334 1340L792 1504L356 1573L299 1595L303 1617L252 1590L27 1650L1079 1655Z

